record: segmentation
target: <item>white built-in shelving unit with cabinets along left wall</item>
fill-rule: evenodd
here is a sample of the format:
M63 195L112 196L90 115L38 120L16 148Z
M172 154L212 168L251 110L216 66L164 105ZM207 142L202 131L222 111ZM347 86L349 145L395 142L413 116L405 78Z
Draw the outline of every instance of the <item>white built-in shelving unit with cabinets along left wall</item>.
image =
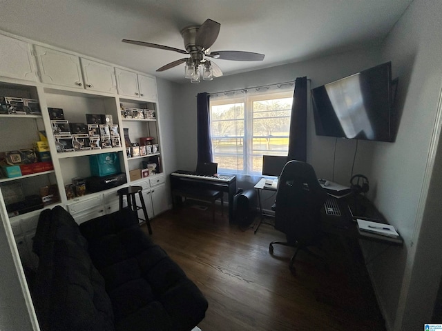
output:
M0 152L32 148L32 143L39 141L38 132L44 130L54 167L51 171L22 177L1 177L1 192L7 191L5 186L19 184L23 194L28 196L39 194L42 186L56 185L60 197L56 204L69 210L79 223L117 210L116 191L125 185L143 187L149 217L155 217L168 208L165 203L164 172L133 182L129 176L131 170L141 168L142 161L151 161L153 158L160 158L164 171L155 77L0 32L0 96L37 99L41 108L41 115L0 114ZM125 119L121 113L122 106L155 110L156 119ZM122 146L57 152L48 108L62 108L69 123L87 123L86 114L111 114L113 123L119 126ZM128 158L126 147L130 146L125 145L124 128L128 129L133 142L139 142L140 137L153 137L154 143L160 146L159 151ZM73 177L90 177L89 157L107 152L118 153L120 168L126 174L128 183L68 200L65 185L70 184ZM0 208L5 206L1 205ZM39 212L36 210L10 217L14 225L12 228L17 232L16 239L19 237L21 244L29 241L26 238L32 235ZM30 254L29 247L21 249L21 252L24 251ZM33 257L22 257L22 261L34 260Z

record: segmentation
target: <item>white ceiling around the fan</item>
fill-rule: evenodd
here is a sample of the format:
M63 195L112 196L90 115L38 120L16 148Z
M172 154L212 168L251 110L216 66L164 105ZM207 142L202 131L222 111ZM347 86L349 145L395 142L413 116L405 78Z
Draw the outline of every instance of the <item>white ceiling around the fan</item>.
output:
M0 30L120 66L183 82L183 56L122 43L184 49L180 30L221 23L216 50L265 54L264 61L215 60L224 75L343 52L381 41L412 0L0 0Z

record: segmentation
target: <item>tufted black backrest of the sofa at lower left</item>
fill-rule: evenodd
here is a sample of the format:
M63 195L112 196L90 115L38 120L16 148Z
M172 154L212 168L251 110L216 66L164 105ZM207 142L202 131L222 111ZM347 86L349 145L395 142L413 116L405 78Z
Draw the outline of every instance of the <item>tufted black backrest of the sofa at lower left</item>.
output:
M87 248L64 208L41 212L33 244L39 267L32 289L41 330L114 330L104 279Z

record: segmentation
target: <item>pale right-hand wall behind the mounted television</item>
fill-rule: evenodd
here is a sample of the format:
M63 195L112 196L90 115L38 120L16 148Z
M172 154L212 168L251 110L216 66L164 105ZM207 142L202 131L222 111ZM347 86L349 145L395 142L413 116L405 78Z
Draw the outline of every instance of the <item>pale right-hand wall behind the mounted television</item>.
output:
M425 206L425 172L432 170L430 146L442 87L441 12L439 0L414 0L385 41L383 57L392 59L401 77L403 114L396 143L374 150L372 176L376 205L401 231L405 245L390 250L370 271L394 330L419 330L430 323L441 279L440 152Z

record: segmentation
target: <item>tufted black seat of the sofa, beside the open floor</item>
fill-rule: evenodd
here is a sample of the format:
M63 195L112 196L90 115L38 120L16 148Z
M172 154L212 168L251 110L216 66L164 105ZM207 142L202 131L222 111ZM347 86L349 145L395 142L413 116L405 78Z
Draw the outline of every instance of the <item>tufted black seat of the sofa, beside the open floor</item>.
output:
M109 215L110 216L110 215ZM203 318L207 301L184 271L135 223L117 226L107 219L97 234L90 223L81 223L88 250L106 283L115 314L116 330L191 330ZM98 231L99 232L99 231Z

